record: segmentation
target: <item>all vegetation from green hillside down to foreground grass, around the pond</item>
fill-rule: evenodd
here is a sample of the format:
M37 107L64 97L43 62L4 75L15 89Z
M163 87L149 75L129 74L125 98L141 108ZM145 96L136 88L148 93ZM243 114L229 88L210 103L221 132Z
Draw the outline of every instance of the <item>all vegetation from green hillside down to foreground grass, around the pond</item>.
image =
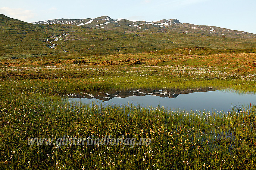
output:
M81 104L91 90L214 87L255 93L254 38L38 26L0 16L1 169L254 169L256 108L227 113ZM56 49L47 39L58 40ZM164 36L163 36L164 35ZM110 39L109 39L110 38ZM179 43L173 43L179 42ZM56 43L57 44L57 43ZM192 49L192 54L188 55ZM65 50L65 51L64 51ZM10 57L18 59L10 59ZM28 145L28 138L151 138L149 145Z

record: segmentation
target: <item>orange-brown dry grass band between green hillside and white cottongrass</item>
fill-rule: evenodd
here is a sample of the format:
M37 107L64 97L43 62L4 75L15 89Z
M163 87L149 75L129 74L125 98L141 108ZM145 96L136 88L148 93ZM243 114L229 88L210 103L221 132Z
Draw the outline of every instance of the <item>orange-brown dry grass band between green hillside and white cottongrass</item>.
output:
M256 53L221 53L208 56L184 54L121 54L108 56L91 56L81 58L26 58L15 60L0 60L5 66L61 66L61 65L193 65L193 66L222 66L230 72L251 74L255 73Z

